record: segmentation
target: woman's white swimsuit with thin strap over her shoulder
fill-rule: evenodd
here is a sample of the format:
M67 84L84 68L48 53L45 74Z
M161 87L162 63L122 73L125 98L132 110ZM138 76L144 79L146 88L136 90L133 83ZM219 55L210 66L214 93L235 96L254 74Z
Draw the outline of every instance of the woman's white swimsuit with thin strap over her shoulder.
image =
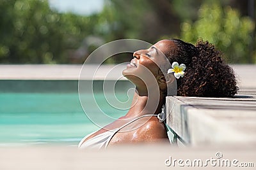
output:
M141 117L135 118L134 120L132 120L131 122L128 122L127 124L122 125L119 128L113 129L111 131L103 132L103 133L98 134L98 135L94 136L93 138L90 138L84 142L84 140L86 140L89 136L91 136L93 133L95 133L95 132L92 132L92 133L88 134L87 136L85 136L80 141L78 147L79 148L95 148L95 149L107 148L110 140L113 138L113 136L118 131L120 131L120 129L122 129L126 125L129 125L132 122L134 122L135 120L138 120L139 118L142 118L142 117L157 117L157 115L143 115Z

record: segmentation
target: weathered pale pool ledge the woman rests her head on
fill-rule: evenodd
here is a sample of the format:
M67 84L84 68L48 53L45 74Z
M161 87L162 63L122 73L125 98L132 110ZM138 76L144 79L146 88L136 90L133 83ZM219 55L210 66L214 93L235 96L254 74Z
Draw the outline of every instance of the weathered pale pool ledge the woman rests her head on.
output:
M256 91L234 98L167 97L167 124L188 145L256 144Z

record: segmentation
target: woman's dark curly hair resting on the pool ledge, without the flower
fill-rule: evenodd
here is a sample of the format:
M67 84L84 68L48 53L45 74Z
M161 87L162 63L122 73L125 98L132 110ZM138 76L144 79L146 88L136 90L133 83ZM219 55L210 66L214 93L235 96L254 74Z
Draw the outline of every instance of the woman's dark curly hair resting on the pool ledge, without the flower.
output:
M177 96L231 97L237 93L233 69L223 62L223 53L208 41L199 39L196 45L172 39L168 60L186 64L185 75L177 80Z

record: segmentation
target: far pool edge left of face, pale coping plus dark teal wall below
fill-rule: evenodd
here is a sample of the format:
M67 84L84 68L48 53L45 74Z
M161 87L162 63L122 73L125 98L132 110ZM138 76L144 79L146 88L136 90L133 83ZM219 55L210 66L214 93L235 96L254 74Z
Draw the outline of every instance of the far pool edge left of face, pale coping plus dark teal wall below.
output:
M0 92L77 92L79 80L84 87L92 87L93 83L93 89L97 92L102 91L103 82L105 85L115 85L115 90L124 91L134 87L122 76L125 67L125 64L2 64Z

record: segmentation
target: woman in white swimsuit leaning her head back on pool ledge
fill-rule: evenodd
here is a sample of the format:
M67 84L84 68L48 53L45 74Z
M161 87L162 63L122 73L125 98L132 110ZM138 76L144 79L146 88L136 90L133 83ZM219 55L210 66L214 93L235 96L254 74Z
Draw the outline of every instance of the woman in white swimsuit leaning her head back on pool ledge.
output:
M237 93L233 70L207 41L200 40L194 46L179 39L165 39L134 52L133 56L123 71L136 85L130 110L124 117L84 137L80 148L168 141L159 113L166 96L175 95L176 88L177 96L230 97Z

